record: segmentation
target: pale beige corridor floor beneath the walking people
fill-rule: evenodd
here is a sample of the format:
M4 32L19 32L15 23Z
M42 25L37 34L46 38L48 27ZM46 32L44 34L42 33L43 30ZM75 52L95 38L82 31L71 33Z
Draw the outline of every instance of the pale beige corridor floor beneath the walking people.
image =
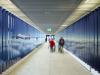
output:
M67 53L51 53L45 43L9 75L92 75Z

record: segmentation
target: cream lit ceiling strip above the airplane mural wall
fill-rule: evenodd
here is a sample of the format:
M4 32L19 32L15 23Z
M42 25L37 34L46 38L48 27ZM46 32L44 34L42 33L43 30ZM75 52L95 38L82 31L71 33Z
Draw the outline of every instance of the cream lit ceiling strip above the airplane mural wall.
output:
M0 0L0 6L4 9L8 10L12 14L16 15L18 18L22 19L29 25L35 27L39 31L42 31L36 24L34 24L15 4L13 4L10 0ZM42 31L43 32L43 31Z

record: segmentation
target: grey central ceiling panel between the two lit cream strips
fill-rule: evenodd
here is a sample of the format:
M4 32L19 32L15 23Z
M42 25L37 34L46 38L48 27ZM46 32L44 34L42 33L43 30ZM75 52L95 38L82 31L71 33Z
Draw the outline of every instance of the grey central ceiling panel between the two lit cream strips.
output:
M55 33L82 0L11 0L43 32ZM48 27L52 28L47 32Z

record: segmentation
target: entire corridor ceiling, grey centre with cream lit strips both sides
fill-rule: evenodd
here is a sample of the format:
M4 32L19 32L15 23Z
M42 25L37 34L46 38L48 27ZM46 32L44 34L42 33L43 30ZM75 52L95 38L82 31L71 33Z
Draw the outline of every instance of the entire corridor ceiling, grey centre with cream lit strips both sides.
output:
M10 4L1 1L5 1L2 6L46 34L55 34L100 4L100 0L7 0Z

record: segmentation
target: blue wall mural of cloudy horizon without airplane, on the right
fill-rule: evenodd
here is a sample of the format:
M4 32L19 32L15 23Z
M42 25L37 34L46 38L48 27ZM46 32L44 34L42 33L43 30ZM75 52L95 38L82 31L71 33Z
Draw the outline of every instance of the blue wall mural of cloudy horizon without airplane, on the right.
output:
M100 7L57 33L57 41L60 37L67 50L100 72Z

